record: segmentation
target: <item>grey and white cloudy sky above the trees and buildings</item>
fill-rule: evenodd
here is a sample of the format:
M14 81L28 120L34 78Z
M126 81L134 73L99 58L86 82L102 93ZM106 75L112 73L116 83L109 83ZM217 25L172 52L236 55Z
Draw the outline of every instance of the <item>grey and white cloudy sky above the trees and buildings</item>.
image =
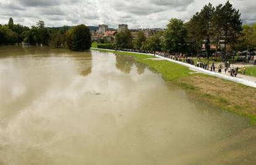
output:
M44 20L48 27L63 25L98 25L117 28L164 28L171 17L189 20L205 4L214 6L225 0L0 0L0 24L8 22L35 25ZM231 0L241 11L244 23L256 22L255 0Z

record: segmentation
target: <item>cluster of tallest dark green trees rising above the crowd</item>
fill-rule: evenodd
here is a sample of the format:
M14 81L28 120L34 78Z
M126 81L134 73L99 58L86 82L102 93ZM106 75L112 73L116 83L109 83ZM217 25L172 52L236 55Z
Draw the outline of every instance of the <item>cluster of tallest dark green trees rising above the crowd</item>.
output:
M226 52L227 45L229 49L234 49L242 31L240 16L239 10L234 9L229 1L216 8L210 3L204 6L187 23L188 38L193 49L198 51L204 43L208 56L210 56L210 44L214 44L215 50L218 51L221 41L224 44L224 52Z

